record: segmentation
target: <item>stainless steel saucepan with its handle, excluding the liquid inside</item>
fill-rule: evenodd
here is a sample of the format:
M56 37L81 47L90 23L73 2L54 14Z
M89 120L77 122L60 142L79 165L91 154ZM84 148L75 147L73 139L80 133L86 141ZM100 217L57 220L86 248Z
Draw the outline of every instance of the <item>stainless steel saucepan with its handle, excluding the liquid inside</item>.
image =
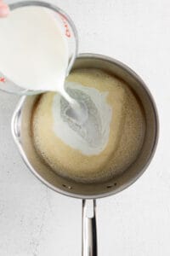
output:
M26 166L42 183L63 195L82 199L82 256L97 256L96 199L114 195L134 183L149 165L156 149L158 117L156 105L146 85L129 67L104 55L83 54L73 69L100 68L123 79L132 88L144 108L146 131L140 154L122 175L103 183L77 183L60 177L44 164L34 148L31 113L39 96L22 96L14 111L12 133ZM57 146L57 145L56 145Z

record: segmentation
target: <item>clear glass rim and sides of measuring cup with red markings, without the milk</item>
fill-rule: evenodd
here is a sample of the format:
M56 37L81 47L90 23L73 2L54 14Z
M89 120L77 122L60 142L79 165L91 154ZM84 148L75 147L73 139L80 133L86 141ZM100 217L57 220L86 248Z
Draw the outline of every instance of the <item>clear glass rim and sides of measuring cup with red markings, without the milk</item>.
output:
M69 15L65 14L63 10L59 9L52 3L39 2L39 1L15 2L15 3L9 4L9 9L13 11L14 9L23 8L26 6L38 6L38 7L46 8L53 13L54 18L57 20L59 28L65 35L66 42L68 44L69 61L68 61L68 67L65 73L65 76L67 76L70 73L71 67L77 57L78 37L77 37L76 26L74 25ZM26 90L24 88L21 88L18 84L14 84L12 80L8 79L5 73L1 73L1 70L0 70L0 90L3 90L11 94L17 94L17 95L34 95L42 92L40 90Z

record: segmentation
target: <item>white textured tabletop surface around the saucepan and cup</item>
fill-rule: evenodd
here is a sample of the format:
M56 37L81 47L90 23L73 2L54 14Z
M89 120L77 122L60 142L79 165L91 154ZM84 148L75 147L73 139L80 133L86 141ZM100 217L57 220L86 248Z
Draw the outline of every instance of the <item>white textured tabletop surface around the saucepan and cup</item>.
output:
M97 201L99 256L170 255L170 2L56 0L79 52L110 55L148 84L161 132L154 160L122 193ZM0 93L0 256L81 255L81 201L47 189L20 160L10 133L18 98Z

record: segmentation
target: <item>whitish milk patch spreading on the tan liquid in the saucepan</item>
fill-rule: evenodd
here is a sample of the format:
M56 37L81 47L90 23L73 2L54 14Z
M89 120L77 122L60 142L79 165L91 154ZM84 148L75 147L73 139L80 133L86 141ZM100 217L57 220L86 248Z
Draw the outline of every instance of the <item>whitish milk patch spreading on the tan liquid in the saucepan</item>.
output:
M61 141L80 150L82 154L100 154L110 136L112 108L106 102L107 92L72 82L67 82L66 87L71 96L87 108L84 112L88 113L88 117L72 117L70 105L56 94L52 107L54 133Z

